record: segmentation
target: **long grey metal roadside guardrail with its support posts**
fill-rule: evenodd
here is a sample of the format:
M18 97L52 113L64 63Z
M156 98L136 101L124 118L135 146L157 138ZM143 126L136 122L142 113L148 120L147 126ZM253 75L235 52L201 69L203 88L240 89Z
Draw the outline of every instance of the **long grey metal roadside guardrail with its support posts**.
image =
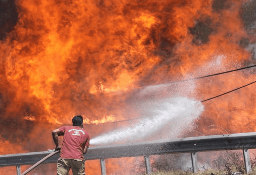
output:
M248 149L256 148L256 133L239 133L189 137L141 143L118 145L91 146L85 154L86 160L99 159L102 175L106 175L105 161L108 158L144 156L147 174L151 173L150 155L190 153L193 171L197 171L197 152L243 150L246 172L251 172ZM0 155L0 167L16 166L20 175L20 165L34 164L52 151ZM59 154L56 154L43 163L56 163Z

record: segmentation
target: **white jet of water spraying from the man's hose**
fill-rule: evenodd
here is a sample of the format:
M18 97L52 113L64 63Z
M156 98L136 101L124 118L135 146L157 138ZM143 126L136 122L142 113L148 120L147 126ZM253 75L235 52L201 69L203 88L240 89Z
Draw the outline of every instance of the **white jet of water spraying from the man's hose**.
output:
M110 144L120 141L136 141L153 136L161 132L161 136L168 138L178 136L183 129L193 125L203 111L200 102L185 98L167 98L151 100L138 104L138 110L143 113L143 118L132 127L114 130L95 137L90 144ZM167 127L168 126L168 127ZM156 134L156 139L159 134Z

